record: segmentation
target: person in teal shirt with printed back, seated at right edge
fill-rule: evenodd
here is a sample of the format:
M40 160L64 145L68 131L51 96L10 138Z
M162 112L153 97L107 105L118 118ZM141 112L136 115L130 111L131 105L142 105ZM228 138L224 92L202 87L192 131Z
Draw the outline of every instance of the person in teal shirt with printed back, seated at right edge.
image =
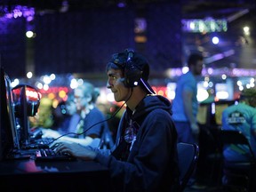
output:
M252 152L256 156L256 89L244 89L238 103L225 108L222 112L222 130L230 130L242 132L249 141ZM222 168L222 184L224 186L244 186L247 188L255 188L255 172L252 166L238 166L239 164L254 164L255 158L248 145L231 144L224 145L222 149L224 164ZM253 163L254 162L254 163ZM231 164L231 165L230 165ZM232 164L236 164L232 166ZM231 170L231 171L230 171ZM251 171L252 172L251 172ZM242 177L239 175L242 175ZM249 177L248 177L249 175ZM250 178L251 179L246 179ZM250 180L250 181L248 181ZM253 181L254 180L254 181ZM249 183L249 185L247 185ZM253 189L249 189L251 191ZM255 191L255 189L253 190Z

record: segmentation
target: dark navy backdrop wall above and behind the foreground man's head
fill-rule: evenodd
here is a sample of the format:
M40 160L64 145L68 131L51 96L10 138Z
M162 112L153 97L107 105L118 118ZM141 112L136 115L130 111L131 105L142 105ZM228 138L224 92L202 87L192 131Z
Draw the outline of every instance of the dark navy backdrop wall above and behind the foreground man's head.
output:
M147 20L143 44L134 41L137 17ZM30 47L37 76L97 73L105 71L112 53L132 47L147 55L154 64L152 70L177 68L181 66L180 19L180 5L170 3L37 14L33 39L25 36L24 18L5 20L0 30L2 65L12 76L26 74L26 49Z

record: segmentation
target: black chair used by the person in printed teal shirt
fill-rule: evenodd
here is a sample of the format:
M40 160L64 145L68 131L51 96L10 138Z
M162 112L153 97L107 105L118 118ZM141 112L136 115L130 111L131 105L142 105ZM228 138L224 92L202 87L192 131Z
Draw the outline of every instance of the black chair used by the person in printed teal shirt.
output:
M252 152L249 140L247 140L242 132L230 130L221 130L220 140L223 149L228 145L247 146L251 156L248 162L227 161L223 158L222 174L225 176L222 180L223 188L233 191L255 191L256 158Z

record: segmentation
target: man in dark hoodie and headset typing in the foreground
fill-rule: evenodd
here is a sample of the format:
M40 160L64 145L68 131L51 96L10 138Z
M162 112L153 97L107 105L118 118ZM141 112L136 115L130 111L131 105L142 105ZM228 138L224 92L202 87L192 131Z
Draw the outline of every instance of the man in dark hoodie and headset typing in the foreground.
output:
M68 152L108 167L112 191L179 191L177 132L172 105L148 84L148 61L127 49L107 65L108 89L124 112L111 150L62 143L57 152Z

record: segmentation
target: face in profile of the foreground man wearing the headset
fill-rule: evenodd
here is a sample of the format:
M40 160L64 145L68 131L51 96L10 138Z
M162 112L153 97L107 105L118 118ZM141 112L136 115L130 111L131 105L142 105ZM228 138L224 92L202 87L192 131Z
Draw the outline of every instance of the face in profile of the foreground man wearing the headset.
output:
M114 93L116 102L127 100L130 95L130 88L124 86L124 77L120 69L110 68L108 74L108 89Z

